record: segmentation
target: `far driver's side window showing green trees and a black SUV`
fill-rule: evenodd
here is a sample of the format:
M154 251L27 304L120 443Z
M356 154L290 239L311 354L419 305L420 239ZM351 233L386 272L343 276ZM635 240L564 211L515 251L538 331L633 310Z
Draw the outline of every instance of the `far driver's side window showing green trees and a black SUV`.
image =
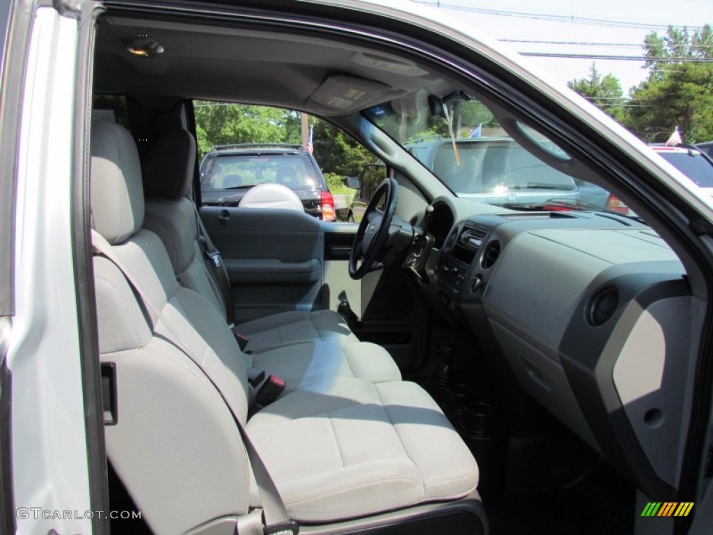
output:
M194 108L203 205L237 206L253 186L278 183L297 193L305 213L352 221L352 204L371 198L381 181L366 180L363 192L347 185L375 156L315 116L230 102L195 101Z

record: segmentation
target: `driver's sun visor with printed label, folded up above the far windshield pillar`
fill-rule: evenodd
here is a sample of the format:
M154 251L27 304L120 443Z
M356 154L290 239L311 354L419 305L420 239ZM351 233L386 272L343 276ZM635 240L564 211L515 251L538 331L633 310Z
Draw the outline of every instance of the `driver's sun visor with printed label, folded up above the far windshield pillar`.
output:
M366 78L329 76L307 101L310 110L325 116L347 115L401 94L391 86Z

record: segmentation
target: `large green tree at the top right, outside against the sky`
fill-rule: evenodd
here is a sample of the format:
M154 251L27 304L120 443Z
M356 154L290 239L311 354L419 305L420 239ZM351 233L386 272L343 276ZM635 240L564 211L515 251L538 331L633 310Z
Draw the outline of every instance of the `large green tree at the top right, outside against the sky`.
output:
M713 31L670 26L644 39L648 78L630 93L622 123L648 142L666 141L676 126L687 143L713 139Z

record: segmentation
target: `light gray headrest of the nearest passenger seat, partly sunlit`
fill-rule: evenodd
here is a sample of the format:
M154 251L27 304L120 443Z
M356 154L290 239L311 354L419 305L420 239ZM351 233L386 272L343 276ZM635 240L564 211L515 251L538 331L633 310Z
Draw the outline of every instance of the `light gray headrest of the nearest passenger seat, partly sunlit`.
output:
M143 225L138 151L131 134L116 123L92 123L91 210L94 228L112 245Z

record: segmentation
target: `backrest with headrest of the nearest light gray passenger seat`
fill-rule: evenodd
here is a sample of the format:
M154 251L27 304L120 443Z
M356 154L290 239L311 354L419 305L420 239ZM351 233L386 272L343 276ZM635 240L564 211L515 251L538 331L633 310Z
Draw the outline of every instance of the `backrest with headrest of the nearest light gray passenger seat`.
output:
M161 315L141 306L114 263L94 258L101 360L116 378L108 457L155 533L245 514L250 468L226 403L245 422L250 358L215 307L178 285L158 235L140 228L141 175L128 131L94 123L91 160L94 228ZM164 321L188 355L168 341Z

